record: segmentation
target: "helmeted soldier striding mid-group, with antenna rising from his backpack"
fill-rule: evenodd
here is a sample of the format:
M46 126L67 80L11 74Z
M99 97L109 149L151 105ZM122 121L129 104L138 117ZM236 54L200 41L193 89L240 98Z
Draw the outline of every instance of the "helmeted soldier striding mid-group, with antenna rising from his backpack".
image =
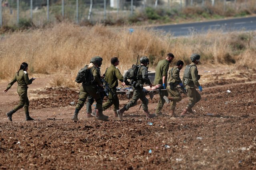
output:
M148 72L147 72L147 65L149 64L149 59L145 56L141 57L139 59L141 62L141 65L138 69L138 75L137 80L135 81L135 84L133 86L133 97L131 98L131 101L129 101L122 109L117 110L117 114L119 115L119 118L123 120L123 113L125 111L128 111L130 107L133 107L136 105L137 100L141 99L142 101L142 109L144 113L146 114L146 118L150 119L155 117L155 114L150 114L148 111L148 99L145 96L145 92L143 91L143 84L149 84L150 87L153 86L150 79L148 78ZM124 77L124 81L122 83L123 86L125 86L125 82L127 81L127 77Z

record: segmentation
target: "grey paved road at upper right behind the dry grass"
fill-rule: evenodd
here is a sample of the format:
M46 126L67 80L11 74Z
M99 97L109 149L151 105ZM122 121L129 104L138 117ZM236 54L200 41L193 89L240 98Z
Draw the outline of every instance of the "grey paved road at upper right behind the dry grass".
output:
M237 30L251 31L256 30L256 17L155 26L153 29L163 30L173 34L173 36L187 36L191 32L204 33L208 30L223 30L224 32Z

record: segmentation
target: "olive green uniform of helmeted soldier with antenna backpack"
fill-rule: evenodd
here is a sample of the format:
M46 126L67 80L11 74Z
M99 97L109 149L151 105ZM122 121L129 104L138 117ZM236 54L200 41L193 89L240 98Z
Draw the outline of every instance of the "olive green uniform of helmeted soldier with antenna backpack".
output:
M126 79L124 77L124 79ZM137 100L141 99L142 101L142 109L148 110L148 99L145 96L145 92L143 91L143 84L151 84L150 79L148 78L148 72L147 67L144 65L139 66L138 71L138 80L136 81L135 87L133 87L133 97L131 98L131 101L125 105L125 110L128 111L130 107L133 107L137 104Z

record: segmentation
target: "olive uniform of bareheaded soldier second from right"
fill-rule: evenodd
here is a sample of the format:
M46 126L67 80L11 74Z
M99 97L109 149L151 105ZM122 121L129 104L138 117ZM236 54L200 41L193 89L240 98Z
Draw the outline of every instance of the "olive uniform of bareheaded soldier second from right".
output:
M177 67L173 67L170 69L167 79L168 95L173 98L171 101L171 109L175 109L177 102L181 101L181 95L176 87L179 83L182 83L179 77L179 69Z

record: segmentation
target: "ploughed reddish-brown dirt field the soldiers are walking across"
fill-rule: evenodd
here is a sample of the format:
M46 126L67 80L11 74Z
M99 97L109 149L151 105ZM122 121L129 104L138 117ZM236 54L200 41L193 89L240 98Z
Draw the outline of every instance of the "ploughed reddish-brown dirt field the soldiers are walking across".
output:
M20 109L8 121L6 113L18 103L16 84L2 93L0 82L0 169L256 169L256 70L198 67L202 100L189 118L145 119L139 104L115 120L71 120L78 90L46 87L50 76L29 86L30 116ZM181 74L182 75L182 74ZM30 75L31 77L31 75ZM231 91L230 93L227 90ZM121 107L129 100L119 96ZM147 96L149 98L149 96ZM177 104L179 115L187 97ZM154 112L156 94L149 99ZM150 124L152 123L152 124Z

